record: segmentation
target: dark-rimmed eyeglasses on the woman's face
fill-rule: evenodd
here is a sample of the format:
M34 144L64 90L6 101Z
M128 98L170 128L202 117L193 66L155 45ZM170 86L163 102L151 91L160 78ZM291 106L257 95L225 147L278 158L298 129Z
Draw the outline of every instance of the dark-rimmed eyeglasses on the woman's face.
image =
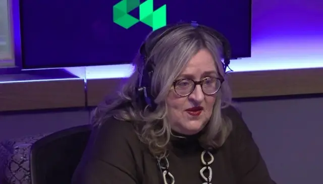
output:
M206 77L201 81L193 81L191 79L179 79L174 81L173 86L175 92L180 96L188 96L190 95L196 85L200 85L202 91L206 95L216 94L220 88L224 79L216 78L216 77Z

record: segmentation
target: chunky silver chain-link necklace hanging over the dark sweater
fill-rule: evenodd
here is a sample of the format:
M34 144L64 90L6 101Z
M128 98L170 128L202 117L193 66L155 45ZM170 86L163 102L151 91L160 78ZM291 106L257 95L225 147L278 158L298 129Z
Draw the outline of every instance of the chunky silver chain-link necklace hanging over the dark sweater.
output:
M206 162L205 161L205 154L207 154L211 159L210 161ZM163 179L164 179L164 184L175 184L175 178L173 176L172 173L169 172L169 162L167 157L163 157L161 159L157 159L158 161L158 166L159 169L161 171L161 174L163 174ZM202 178L204 179L204 182L202 184L211 184L211 180L212 180L212 168L210 167L210 164L213 163L214 161L214 157L213 155L209 152L209 151L203 151L201 154L201 162L203 164L203 167L200 170L200 175L202 176ZM208 170L209 176L206 177L204 175L204 171ZM170 182L168 182L167 178L170 179Z

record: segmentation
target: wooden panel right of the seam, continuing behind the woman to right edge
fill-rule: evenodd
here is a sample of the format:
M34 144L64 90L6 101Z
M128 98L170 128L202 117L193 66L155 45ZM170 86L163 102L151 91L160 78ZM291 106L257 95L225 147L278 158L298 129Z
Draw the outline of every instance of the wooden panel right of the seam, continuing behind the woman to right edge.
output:
M115 92L121 80L88 80L88 105L97 105ZM323 93L323 68L233 72L228 81L234 98L318 94Z

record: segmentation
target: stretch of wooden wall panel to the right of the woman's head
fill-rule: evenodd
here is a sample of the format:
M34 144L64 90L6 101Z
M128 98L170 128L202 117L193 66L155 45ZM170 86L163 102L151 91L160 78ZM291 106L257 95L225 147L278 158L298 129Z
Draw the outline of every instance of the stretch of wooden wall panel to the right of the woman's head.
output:
M270 97L323 93L323 68L231 73L233 96Z

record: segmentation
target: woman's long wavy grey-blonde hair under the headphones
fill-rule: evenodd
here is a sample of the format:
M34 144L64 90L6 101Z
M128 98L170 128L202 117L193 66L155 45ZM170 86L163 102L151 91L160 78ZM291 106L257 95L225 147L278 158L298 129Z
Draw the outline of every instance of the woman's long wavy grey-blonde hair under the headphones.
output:
M165 33L161 31L161 34ZM92 112L92 122L95 125L104 123L107 118L134 123L139 139L148 145L151 154L163 157L170 145L172 130L167 122L167 104L165 99L173 81L185 69L189 60L201 49L207 49L214 58L219 77L225 79L225 72L221 62L222 44L203 29L182 24L161 38L160 31L154 31L146 39L145 49L149 50L147 60L153 62L154 73L151 79L151 94L157 104L153 112L140 108L137 100L138 78L143 60L140 53L134 59L134 72L118 92L117 98L96 107ZM157 43L154 43L158 39ZM151 45L154 44L154 45ZM217 93L213 113L206 125L205 131L199 138L204 149L222 146L232 130L231 120L224 116L222 109L231 105L231 90L227 81L222 84Z

